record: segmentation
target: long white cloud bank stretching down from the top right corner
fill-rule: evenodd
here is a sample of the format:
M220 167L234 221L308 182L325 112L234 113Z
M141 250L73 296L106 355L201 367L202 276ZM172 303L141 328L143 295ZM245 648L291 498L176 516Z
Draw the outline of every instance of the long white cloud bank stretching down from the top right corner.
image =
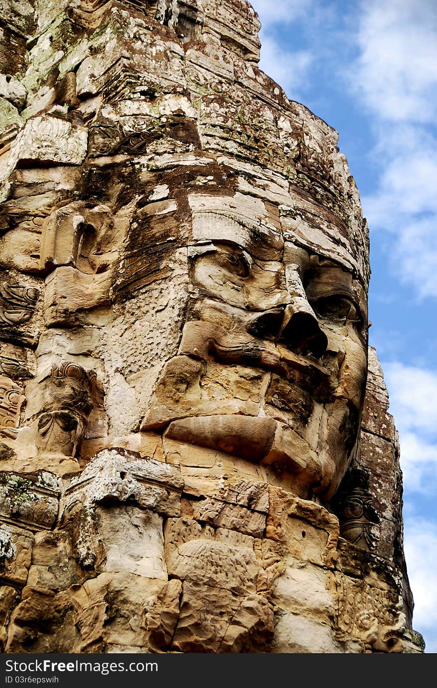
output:
M372 232L393 233L387 253L398 279L437 297L437 5L363 2L353 40L349 84L373 116L380 170L364 215Z

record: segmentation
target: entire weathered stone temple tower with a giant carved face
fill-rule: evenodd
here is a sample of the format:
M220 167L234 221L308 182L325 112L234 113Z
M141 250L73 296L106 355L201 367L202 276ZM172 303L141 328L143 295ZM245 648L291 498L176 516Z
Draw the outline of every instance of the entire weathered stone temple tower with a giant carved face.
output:
M337 133L245 0L0 10L3 652L421 652Z

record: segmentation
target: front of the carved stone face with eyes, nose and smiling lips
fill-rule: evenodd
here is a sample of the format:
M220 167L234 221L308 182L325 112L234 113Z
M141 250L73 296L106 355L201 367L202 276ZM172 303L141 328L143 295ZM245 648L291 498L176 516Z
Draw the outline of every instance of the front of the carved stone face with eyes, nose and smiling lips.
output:
M182 338L141 429L270 464L299 494L329 498L359 429L365 292L340 261L257 223L259 204L189 196Z

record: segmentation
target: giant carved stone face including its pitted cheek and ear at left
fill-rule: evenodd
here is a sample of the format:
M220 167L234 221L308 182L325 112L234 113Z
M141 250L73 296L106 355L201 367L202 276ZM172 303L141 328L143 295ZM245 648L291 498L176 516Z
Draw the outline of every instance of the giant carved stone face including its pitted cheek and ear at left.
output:
M305 198L307 217L321 218L316 234L303 221L294 232L259 189L235 192L220 166L209 171L215 177L192 165L150 175L141 194L127 178L120 202L102 189L47 216L39 355L70 361L70 338L80 341L84 327L95 358L81 365L105 380L107 418L100 414L96 429L76 413L72 430L53 416L72 407L58 400L50 409L46 400L30 404L29 417L45 413L43 444L50 420L51 432L67 437L67 455L105 424L109 444L140 427L270 466L298 495L330 499L354 451L363 403L361 273L344 245L329 244L315 201ZM293 202L302 202L297 192ZM61 440L53 442L61 451Z

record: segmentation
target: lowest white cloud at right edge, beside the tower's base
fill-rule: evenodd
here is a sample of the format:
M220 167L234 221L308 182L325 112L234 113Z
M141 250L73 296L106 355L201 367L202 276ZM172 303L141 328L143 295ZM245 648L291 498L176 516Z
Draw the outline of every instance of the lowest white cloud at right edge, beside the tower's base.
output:
M405 559L414 596L413 626L437 652L437 524L412 513L404 528Z

